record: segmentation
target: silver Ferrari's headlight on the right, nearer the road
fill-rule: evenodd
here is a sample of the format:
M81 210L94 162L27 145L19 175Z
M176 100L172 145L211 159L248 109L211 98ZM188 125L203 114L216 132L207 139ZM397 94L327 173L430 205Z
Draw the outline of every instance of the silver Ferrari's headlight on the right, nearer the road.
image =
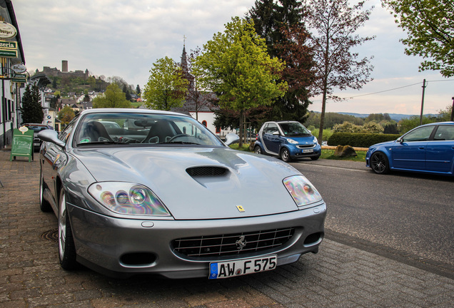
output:
M313 187L312 183L303 175L293 175L285 178L283 184L286 186L288 193L295 200L298 207L310 205L311 203L322 200L320 193Z

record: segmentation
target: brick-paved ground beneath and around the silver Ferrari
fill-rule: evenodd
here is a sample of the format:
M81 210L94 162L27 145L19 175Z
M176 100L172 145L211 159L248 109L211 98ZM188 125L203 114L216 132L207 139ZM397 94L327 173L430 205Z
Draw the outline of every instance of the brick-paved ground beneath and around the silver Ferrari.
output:
M273 272L118 280L61 270L56 218L39 210L39 164L0 150L0 307L453 307L454 279L326 239Z

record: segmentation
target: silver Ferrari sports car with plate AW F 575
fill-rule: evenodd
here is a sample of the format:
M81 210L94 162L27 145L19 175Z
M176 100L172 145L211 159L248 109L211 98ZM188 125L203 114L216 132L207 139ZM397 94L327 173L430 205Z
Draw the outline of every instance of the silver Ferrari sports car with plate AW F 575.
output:
M298 170L232 150L237 135L224 143L190 116L92 109L39 138L40 206L58 217L65 270L218 279L323 240L326 204Z

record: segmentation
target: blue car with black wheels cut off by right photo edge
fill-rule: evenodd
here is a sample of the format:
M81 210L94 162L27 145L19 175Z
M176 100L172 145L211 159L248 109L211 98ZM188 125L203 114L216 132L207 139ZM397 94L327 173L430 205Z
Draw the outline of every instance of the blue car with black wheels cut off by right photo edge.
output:
M378 174L390 170L453 175L454 122L418 126L395 141L370 146L365 165Z

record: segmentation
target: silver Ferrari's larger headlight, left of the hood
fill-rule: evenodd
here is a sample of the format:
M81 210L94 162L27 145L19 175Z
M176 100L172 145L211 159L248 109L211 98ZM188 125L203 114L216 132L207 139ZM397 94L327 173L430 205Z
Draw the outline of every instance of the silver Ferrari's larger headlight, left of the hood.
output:
M163 202L143 185L124 182L94 183L89 193L101 205L118 214L171 216Z

